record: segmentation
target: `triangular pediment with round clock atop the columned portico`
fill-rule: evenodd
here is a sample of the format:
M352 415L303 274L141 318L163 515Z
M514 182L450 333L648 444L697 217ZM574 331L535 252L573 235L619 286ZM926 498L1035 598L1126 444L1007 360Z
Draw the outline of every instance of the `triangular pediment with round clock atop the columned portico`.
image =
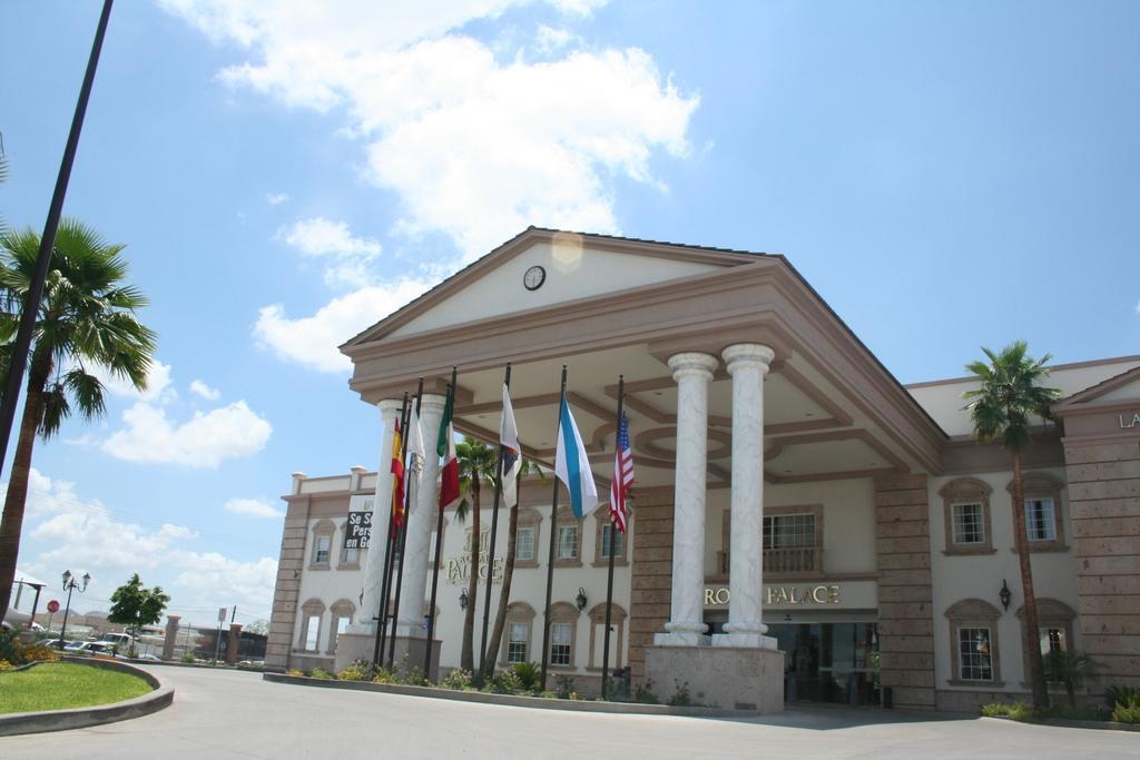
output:
M763 255L528 228L342 349L619 291L651 288L754 263Z

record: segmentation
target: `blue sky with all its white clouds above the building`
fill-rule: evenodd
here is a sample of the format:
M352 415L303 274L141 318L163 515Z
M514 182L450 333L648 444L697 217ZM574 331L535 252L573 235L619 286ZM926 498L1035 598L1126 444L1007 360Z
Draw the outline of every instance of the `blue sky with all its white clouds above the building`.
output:
M0 11L9 224L99 5ZM529 223L783 253L903 382L1140 352L1137 3L262 5L112 15L65 213L161 366L36 449L19 564L81 608L138 570L267 616L290 473L376 466L335 345Z

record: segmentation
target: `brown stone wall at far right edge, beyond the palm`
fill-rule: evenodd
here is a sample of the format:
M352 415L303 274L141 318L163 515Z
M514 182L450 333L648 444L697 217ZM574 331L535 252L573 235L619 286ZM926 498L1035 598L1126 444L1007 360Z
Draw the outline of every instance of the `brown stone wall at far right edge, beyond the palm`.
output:
M1131 440L1129 440L1131 438ZM1094 685L1140 683L1140 438L1065 441L1084 652Z

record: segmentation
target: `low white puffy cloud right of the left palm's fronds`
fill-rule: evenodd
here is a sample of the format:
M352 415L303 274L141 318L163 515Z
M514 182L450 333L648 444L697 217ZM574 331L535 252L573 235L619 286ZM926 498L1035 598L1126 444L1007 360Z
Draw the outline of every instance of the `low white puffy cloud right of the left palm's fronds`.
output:
M237 401L209 412L195 412L180 425L163 409L136 403L123 412L124 430L103 443L114 457L137 463L217 467L226 459L256 453L272 427L245 403Z

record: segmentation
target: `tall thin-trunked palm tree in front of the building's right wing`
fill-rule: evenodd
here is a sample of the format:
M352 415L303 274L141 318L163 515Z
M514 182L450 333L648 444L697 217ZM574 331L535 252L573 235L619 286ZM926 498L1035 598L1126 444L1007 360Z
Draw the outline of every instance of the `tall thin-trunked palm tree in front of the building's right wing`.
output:
M1000 441L1013 461L1013 536L1021 570L1021 589L1025 594L1025 651L1029 660L1033 684L1033 706L1049 706L1041 647L1037 640L1037 597L1033 591L1033 569L1029 565L1028 534L1025 528L1025 485L1021 480L1021 449L1029 442L1029 423L1033 417L1049 419L1049 404L1060 398L1060 391L1043 387L1040 383L1049 375L1044 365L1051 359L1027 354L1025 341L1015 341L994 353L983 346L988 363L971 361L966 368L974 373L982 386L967 391L966 410L974 422L974 432L983 441Z

